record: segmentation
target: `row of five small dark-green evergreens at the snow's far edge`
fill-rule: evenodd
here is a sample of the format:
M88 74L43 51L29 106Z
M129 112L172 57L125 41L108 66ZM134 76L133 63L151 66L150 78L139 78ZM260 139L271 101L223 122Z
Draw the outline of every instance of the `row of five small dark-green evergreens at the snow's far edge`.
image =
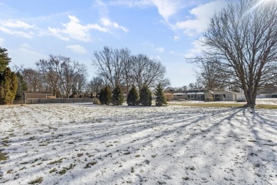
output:
M163 85L158 83L155 93L156 95L156 106L166 105L165 95L163 93ZM131 90L127 95L128 106L151 106L152 105L152 93L147 85L143 85L141 90L136 90L135 85L132 85ZM113 92L109 86L104 87L99 93L99 101L102 105L109 105L111 102L113 105L122 105L124 102L124 96L119 85L116 85Z

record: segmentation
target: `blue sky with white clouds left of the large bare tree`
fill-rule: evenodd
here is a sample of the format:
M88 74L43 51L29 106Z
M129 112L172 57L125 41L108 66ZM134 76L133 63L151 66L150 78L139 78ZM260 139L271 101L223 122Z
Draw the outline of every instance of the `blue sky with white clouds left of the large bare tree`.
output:
M0 0L0 47L12 65L35 67L50 54L85 63L95 74L94 51L129 48L166 66L171 86L195 82L185 62L200 53L209 18L224 0Z

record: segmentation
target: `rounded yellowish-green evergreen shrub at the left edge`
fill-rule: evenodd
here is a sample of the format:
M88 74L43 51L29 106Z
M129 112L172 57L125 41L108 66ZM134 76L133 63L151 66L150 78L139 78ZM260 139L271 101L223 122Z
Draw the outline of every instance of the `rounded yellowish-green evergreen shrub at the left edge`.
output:
M0 104L10 104L16 97L17 91L16 73L11 72L10 68L4 70L3 75L0 75Z

